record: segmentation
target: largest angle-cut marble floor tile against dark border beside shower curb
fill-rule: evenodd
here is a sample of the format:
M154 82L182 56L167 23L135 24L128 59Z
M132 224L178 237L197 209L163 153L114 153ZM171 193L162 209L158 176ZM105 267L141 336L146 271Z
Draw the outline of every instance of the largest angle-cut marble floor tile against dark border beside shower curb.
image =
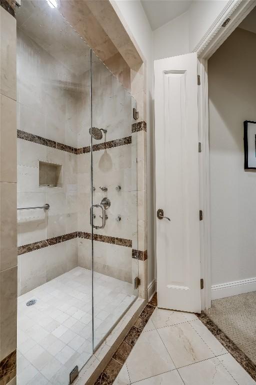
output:
M126 364L131 382L175 368L156 330L140 334Z

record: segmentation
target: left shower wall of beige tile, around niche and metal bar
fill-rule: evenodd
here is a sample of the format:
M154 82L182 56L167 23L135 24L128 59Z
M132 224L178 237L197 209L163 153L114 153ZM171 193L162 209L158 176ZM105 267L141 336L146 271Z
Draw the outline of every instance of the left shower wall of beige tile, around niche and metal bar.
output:
M21 25L17 32L17 206L48 203L50 209L18 211L18 247L77 232L77 155L74 148L78 127L82 127L79 119L82 120L84 113L84 109L78 107L86 93L88 95L83 79L84 74L78 79L30 39ZM83 88L79 87L82 83ZM24 132L47 140L37 138L35 143L35 137ZM39 186L39 160L61 166L59 187ZM76 237L20 254L18 293L23 294L75 266Z

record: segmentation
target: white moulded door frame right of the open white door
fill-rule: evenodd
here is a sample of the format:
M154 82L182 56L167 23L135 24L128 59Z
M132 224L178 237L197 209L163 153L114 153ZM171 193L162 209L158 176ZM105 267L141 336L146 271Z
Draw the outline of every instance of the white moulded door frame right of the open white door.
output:
M211 252L210 252L210 178L209 178L209 119L208 119L208 75L207 61L227 39L241 21L256 6L256 0L229 0L206 34L192 52L197 53L198 75L198 141L201 142L199 156L199 200L203 211L200 223L200 262L204 288L201 290L201 310L211 306ZM222 24L230 19L225 27Z

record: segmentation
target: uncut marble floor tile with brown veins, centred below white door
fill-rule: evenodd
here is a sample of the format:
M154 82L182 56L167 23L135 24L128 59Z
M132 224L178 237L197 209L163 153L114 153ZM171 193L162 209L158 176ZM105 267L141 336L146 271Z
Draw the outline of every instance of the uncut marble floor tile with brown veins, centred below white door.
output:
M189 322L157 329L176 367L213 357Z

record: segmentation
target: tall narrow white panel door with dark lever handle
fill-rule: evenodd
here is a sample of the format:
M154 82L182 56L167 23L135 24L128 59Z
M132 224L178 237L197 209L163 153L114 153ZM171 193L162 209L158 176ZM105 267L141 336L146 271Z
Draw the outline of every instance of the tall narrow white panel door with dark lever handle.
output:
M201 311L196 54L154 62L157 303Z

